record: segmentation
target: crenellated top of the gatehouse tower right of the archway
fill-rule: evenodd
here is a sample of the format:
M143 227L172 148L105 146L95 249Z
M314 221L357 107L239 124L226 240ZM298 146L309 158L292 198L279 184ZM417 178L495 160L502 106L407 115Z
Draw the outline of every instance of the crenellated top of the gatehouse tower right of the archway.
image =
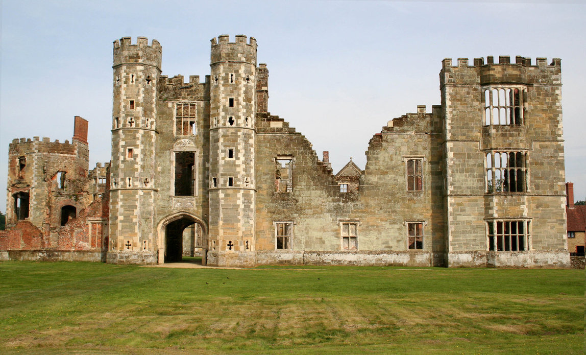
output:
M212 65L218 62L244 62L256 66L256 39L251 37L247 43L246 38L245 35L236 35L235 42L230 42L229 35L212 38Z

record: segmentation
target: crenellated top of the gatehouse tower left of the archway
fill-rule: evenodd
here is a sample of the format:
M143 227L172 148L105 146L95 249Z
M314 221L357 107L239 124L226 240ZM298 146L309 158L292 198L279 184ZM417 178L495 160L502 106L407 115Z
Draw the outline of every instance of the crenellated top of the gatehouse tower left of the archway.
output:
M137 37L132 44L130 37L122 37L114 41L114 66L122 64L152 65L161 69L161 53L163 48L158 40L153 39L148 45L146 37Z

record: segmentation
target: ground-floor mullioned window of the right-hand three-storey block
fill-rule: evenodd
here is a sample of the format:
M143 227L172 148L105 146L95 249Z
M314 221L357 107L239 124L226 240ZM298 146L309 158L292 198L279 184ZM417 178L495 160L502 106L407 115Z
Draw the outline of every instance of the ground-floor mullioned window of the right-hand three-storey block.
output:
M528 250L530 227L531 221L489 221L488 249L491 251Z

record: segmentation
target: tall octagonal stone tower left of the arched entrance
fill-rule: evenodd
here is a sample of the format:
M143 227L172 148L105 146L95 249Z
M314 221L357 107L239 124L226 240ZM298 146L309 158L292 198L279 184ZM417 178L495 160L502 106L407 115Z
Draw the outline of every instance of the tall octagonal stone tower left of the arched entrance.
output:
M156 84L161 45L114 41L108 262L156 263Z

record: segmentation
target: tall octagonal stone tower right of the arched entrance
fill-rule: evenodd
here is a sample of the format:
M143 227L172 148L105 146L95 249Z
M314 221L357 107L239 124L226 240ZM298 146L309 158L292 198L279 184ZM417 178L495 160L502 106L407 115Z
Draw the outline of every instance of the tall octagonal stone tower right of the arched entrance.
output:
M209 265L255 265L256 58L252 37L212 39Z

